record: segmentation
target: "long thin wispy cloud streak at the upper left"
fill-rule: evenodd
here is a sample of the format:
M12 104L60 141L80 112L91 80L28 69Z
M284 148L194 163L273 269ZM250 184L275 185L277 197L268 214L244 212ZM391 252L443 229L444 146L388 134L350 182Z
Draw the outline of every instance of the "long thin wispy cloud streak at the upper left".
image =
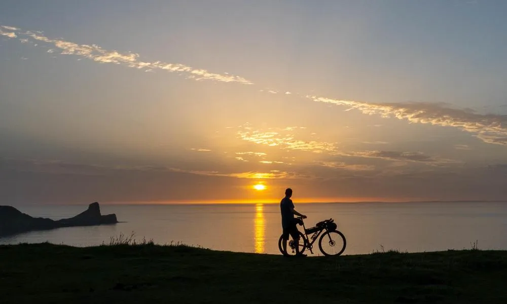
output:
M54 48L60 49L61 50L60 54L62 55L82 56L99 63L115 63L125 65L131 68L179 72L182 74L187 74L188 78L197 81L211 80L226 83L240 83L245 85L253 84L252 82L242 77L231 75L229 73L224 74L212 73L205 69L194 68L180 63L167 63L162 61L154 61L154 62L141 61L139 59L140 57L139 54L136 53L131 52L122 53L115 50L105 50L100 46L94 44L80 45L74 42L50 39L40 32L22 31L18 28L5 25L2 27L5 29L16 31L16 33L14 33L14 32L4 32L0 30L0 34L2 35L8 36L10 38L15 38L17 37L17 35L23 36L23 38L21 38L20 40L24 43L26 43L27 41L43 42L46 45L49 45L51 49Z

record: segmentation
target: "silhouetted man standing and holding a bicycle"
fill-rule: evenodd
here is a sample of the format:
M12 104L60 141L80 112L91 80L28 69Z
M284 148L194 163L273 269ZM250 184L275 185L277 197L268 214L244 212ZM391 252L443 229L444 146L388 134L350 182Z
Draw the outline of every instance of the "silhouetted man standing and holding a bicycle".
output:
M283 239L282 246L283 250L287 250L288 236L291 235L296 245L296 255L299 254L299 231L298 221L294 218L294 214L306 218L306 215L299 213L294 210L294 203L291 200L292 189L285 189L285 197L280 202L280 211L282 214L282 228L283 228Z

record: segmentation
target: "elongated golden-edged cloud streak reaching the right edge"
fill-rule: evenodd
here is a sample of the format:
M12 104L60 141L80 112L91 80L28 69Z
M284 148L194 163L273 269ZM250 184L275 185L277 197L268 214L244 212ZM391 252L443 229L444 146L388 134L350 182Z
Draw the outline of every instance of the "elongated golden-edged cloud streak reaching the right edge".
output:
M367 103L307 96L314 101L357 109L364 114L394 117L410 123L451 126L473 133L487 143L507 144L507 115L482 115L470 109L455 109L429 102Z

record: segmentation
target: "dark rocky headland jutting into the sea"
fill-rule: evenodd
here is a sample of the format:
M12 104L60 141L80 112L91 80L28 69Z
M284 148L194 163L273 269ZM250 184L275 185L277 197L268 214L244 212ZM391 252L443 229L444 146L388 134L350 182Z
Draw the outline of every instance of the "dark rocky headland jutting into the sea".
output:
M7 236L33 230L49 230L59 227L92 226L116 224L116 214L100 214L97 202L90 204L86 211L71 218L52 220L42 217L31 217L12 206L0 206L0 236Z

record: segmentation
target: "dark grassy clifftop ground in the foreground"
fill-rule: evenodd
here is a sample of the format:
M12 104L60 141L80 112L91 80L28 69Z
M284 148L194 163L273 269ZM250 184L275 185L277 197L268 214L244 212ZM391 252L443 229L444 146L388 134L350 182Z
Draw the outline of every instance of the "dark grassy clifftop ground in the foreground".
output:
M187 246L0 246L0 303L507 303L507 251L284 258Z

